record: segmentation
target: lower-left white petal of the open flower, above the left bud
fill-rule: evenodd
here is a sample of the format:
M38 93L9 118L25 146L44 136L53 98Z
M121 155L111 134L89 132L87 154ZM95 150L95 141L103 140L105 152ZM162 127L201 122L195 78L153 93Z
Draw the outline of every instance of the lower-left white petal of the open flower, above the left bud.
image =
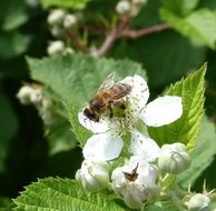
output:
M122 145L121 138L116 133L94 134L84 147L82 154L88 160L112 160L118 158Z

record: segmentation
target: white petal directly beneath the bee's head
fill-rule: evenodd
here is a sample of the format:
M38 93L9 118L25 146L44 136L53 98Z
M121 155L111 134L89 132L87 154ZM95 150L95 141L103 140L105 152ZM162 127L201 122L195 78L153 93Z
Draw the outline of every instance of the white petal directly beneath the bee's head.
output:
M101 133L109 130L108 123L106 121L91 121L84 114L84 112L78 113L78 119L81 125L84 125L88 130L91 130L94 133Z

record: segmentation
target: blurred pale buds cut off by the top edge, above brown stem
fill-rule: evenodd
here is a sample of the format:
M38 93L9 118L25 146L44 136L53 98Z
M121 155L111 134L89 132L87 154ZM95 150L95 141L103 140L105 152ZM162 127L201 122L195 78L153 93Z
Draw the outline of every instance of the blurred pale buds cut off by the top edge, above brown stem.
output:
M120 0L116 6L116 11L119 16L135 17L146 3L147 0Z

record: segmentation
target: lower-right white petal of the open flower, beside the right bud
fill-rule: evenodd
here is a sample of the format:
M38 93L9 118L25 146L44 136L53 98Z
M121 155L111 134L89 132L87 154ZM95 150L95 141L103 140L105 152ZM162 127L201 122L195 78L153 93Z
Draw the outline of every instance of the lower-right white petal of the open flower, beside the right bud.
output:
M139 155L148 162L155 161L160 154L157 143L137 130L131 133L130 149L135 155Z

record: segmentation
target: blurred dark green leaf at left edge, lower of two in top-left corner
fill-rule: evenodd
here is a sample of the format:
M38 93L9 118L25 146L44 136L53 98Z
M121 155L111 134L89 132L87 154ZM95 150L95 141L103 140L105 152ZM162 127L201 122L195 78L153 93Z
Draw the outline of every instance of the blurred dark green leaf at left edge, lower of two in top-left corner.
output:
M9 59L23 53L29 44L29 37L18 31L0 33L0 57Z

